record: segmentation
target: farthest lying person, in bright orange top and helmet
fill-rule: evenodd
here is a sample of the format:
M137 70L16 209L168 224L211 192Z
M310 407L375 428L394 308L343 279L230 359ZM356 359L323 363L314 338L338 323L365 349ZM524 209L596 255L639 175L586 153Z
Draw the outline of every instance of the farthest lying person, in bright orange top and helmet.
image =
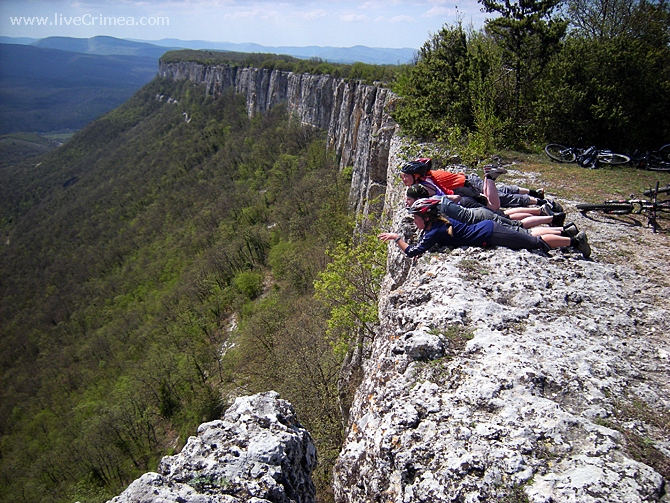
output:
M497 210L503 207L519 207L542 205L547 201L540 197L544 193L518 187L516 185L496 185L496 178L507 173L499 166L485 166L484 180L475 174L452 173L446 170L431 170L432 161L428 158L419 158L406 162L400 167L402 182L410 187L419 183L426 187L431 196L460 195L480 200L484 195L488 199L486 205Z

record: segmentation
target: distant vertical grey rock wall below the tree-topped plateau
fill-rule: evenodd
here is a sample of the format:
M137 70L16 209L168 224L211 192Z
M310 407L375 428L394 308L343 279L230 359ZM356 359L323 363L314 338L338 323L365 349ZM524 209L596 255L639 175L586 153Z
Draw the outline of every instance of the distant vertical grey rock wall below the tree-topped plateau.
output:
M249 115L286 103L303 124L328 132L340 169L353 167L350 201L361 213L379 212L373 201L384 194L389 148L397 125L388 115L393 94L330 75L295 74L259 68L206 66L194 62L163 63L161 77L205 85L208 94L228 89L246 96Z

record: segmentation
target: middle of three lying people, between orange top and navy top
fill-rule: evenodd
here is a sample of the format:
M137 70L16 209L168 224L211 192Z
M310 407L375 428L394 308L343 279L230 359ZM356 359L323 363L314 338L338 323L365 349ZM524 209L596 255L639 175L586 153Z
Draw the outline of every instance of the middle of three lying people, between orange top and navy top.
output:
M423 185L414 184L411 187L407 188L405 192L405 206L410 207L414 204L414 201L417 199L426 199L428 198L428 191ZM444 215L448 218L453 218L464 224L476 224L483 220L493 220L499 224L511 227L515 230L526 230L533 228L532 234L534 236L539 236L541 234L557 234L557 235L577 235L577 227L575 224L570 223L567 225L567 230L563 227L565 223L565 213L554 213L552 215L542 215L539 212L539 208L518 208L522 211L530 211L537 209L537 213L526 214L526 213L516 213L516 215L523 215L523 218L511 218L507 216L502 211L493 211L489 208L483 206L475 208L466 208L459 204L461 196L433 196L434 198L440 199L440 204L438 206L438 211L441 215ZM516 208L515 208L516 209ZM550 227L538 228L538 225L547 224ZM572 234L566 234L570 232Z

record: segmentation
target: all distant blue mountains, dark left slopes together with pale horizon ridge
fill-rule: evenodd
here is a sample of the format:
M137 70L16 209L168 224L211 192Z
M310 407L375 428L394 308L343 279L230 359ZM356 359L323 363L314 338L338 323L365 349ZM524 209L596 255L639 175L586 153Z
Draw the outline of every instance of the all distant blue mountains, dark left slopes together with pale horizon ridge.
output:
M0 135L79 129L116 108L158 71L170 50L268 53L332 63L403 64L414 49L266 47L202 40L0 36Z

